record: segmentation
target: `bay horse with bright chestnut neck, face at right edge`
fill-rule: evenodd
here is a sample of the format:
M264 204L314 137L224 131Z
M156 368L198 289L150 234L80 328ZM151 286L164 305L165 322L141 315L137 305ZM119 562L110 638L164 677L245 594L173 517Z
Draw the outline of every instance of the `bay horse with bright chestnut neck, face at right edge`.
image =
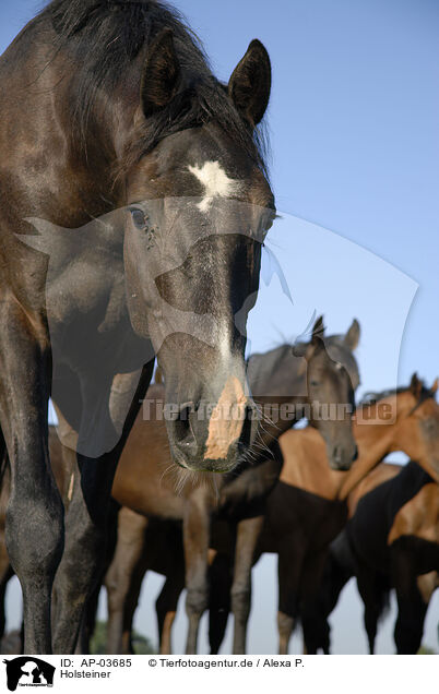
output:
M315 624L324 561L331 541L346 522L347 496L360 480L392 451L404 451L412 457L416 454L425 470L439 480L436 390L437 382L428 390L414 374L407 388L382 394L358 408L357 418L364 422L354 423L359 455L345 472L330 469L316 430L290 430L281 438L284 466L266 502L254 555L257 561L262 552L278 554L281 653L287 653L299 615L307 651L316 653L321 645ZM377 423L380 412L384 417L392 415L392 423ZM217 632L213 624L214 650L222 638Z

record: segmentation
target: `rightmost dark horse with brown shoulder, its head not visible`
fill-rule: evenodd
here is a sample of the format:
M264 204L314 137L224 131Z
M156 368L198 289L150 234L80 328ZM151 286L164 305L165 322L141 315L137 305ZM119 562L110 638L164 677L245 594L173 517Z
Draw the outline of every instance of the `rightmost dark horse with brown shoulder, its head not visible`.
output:
M439 581L439 486L416 463L388 467L395 469L382 476L380 484L364 490L353 517L331 547L322 582L322 613L329 617L345 583L356 576L373 654L378 622L394 588L396 651L416 654Z

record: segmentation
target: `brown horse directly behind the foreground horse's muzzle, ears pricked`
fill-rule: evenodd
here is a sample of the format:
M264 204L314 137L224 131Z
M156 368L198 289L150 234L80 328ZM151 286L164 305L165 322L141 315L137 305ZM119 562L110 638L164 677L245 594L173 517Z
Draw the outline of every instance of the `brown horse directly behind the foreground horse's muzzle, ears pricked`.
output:
M200 484L193 488L191 480L188 480L187 484L180 481L180 491L176 493L176 478L169 468L166 430L163 422L151 418L156 412L154 397L159 398L159 386L153 386L145 403L150 419L142 421L139 418L133 429L115 477L112 494L120 504L145 516L183 519L189 653L195 651L199 621L209 601L207 555L209 548L212 547L212 522L215 519L214 535L218 517L232 526L232 543L238 528L240 539L236 543L236 566L244 563L251 569L252 549L249 542L244 541L248 524L246 515L261 513L264 498L276 482L281 466L274 444L282 431L301 417L307 404L312 403L315 406L316 426L325 436L332 465L346 467L351 463L355 454L351 433L352 382L356 386L359 380L351 350L357 342L356 322L345 336L324 338L319 319L309 343L296 345L295 354L289 345L285 345L273 352L250 358L248 374L253 397L261 407L270 404L271 417L264 423L262 434L263 448L253 465L237 477L224 479L216 489ZM265 397L264 393L268 394ZM318 409L330 404L344 406L339 420L319 418ZM289 406L288 414L283 416L282 408L286 406ZM266 459L270 455L272 457ZM140 545L135 545L135 548L132 545L135 555L140 555L142 551L142 536L139 535L138 538ZM134 564L134 559L124 555L124 562L129 565ZM235 582L233 611L237 651L245 647L242 632L239 632L244 622L240 615L249 609L249 588L247 585L244 588L242 584ZM118 629L110 626L109 630L111 638L114 634L119 634L118 638L115 637L109 643L112 653L120 653L122 646L120 615L128 589L128 583L119 584L120 607L109 614L110 624L114 615L119 614ZM112 605L115 603L116 597L112 598Z

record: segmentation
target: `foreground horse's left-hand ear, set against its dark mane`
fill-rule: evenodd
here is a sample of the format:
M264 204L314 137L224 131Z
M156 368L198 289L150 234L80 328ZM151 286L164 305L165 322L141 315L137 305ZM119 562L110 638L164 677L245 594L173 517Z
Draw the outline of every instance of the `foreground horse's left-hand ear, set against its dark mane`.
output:
M178 60L171 29L163 29L152 41L143 68L141 103L147 118L173 99L180 82Z

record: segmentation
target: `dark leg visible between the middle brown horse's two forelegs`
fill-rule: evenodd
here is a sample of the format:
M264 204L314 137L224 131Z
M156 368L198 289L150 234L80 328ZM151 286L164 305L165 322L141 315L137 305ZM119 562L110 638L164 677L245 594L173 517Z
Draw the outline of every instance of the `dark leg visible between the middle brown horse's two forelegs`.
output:
M210 567L209 643L211 655L220 653L230 612L230 558L217 553Z

